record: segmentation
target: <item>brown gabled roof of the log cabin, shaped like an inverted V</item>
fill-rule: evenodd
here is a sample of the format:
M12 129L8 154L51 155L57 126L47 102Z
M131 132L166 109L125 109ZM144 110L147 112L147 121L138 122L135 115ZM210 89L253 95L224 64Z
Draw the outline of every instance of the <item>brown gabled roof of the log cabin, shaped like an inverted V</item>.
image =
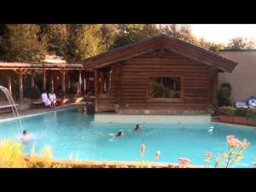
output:
M231 73L237 65L236 61L232 61L224 56L213 53L210 50L202 49L195 44L189 44L177 38L161 34L90 57L84 61L84 67L89 70L105 67L114 62L124 61L157 49L166 49L179 55L186 56L191 60L204 63L208 66L217 67L219 70L229 73Z

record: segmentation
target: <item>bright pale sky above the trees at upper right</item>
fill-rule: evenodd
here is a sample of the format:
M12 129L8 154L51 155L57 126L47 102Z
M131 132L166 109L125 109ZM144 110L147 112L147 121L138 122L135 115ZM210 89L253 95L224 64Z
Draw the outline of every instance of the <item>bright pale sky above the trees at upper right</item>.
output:
M256 41L255 24L190 24L193 34L215 43L229 43L230 39L242 37Z

